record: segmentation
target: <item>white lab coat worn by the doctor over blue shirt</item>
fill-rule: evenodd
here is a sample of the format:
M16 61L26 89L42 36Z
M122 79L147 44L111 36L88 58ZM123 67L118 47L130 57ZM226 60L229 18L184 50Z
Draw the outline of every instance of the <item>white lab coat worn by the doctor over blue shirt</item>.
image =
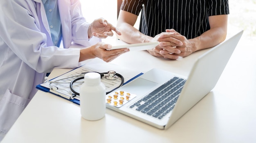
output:
M41 0L0 0L0 141L54 67L75 68L80 49L100 39L88 39L79 0L58 0L63 48L53 46ZM47 106L47 103L45 103ZM36 109L35 109L36 110ZM29 123L24 123L29 124Z

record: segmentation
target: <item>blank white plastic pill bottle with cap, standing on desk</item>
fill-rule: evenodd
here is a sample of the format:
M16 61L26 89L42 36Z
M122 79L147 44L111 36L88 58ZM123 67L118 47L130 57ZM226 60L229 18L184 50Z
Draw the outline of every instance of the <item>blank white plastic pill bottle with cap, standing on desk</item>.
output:
M106 87L97 72L89 72L84 76L80 87L81 115L87 120L99 120L106 113Z

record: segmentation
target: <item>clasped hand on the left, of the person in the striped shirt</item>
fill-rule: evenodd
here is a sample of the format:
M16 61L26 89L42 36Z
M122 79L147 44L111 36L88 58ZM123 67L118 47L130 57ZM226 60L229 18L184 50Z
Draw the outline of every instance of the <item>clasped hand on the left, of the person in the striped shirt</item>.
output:
M176 45L182 45L182 41L175 38L176 32L171 32L166 30L166 32L162 32L152 39L151 42L159 41L159 45L155 48L148 50L148 52L157 57L163 57L168 59L177 59L179 56L175 54L180 54L180 50L175 48ZM171 54L170 54L171 53Z

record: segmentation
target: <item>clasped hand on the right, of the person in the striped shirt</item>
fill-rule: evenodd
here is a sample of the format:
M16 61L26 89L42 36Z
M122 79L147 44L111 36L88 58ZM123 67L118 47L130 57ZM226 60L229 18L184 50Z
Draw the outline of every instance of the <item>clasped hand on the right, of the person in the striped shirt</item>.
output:
M171 34L171 33L175 33L175 34ZM171 42L171 41L166 42L166 41L169 41L168 39L170 39L170 37L181 41L181 43ZM188 39L186 39L185 36L181 35L174 29L166 29L166 33L160 35L159 41L161 41L159 45L162 45L162 48L164 49L164 50L160 50L159 53L163 56L171 55L175 58L178 58L178 56L186 57L186 56L189 56L191 53L195 52L195 49L193 48L194 47L193 43L191 43ZM173 52L171 48L175 48L176 50L179 50L180 53Z

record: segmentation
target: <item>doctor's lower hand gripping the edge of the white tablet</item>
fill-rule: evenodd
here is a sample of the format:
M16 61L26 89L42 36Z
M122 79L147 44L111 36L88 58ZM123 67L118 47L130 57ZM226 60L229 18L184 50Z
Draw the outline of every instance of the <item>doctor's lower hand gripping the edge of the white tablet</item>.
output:
M110 62L117 58L119 55L129 52L127 48L116 49L116 50L106 50L112 48L112 45L99 42L88 48L80 50L79 62L88 60L90 58L101 58L105 62Z

